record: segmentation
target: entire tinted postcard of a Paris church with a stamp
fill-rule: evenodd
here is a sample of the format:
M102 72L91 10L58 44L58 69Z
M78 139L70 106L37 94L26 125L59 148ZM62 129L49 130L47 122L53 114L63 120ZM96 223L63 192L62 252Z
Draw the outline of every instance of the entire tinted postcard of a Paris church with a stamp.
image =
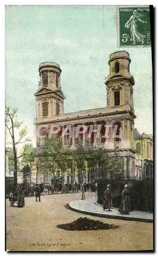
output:
M153 16L5 7L6 251L153 251Z

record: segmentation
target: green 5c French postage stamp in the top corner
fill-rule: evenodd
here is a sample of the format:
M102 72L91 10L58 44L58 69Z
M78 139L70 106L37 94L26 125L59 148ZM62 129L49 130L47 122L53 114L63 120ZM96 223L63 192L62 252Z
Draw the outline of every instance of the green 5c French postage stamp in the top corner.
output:
M118 46L151 46L149 6L118 6Z

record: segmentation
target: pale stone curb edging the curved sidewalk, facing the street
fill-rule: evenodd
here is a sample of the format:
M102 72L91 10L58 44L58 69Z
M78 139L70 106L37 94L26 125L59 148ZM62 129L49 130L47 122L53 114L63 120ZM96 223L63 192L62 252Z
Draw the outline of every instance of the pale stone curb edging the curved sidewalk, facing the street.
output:
M77 209L77 208L74 208L73 206L71 206L71 202L69 202L69 207L70 207L71 210L78 211L81 214L87 214L87 215L98 216L98 217L109 218L109 219L118 219L118 220L128 220L128 221L138 221L138 222L153 223L152 219L134 218L134 217L125 216L125 215L118 215L117 216L117 215L110 215L110 214L101 214L99 212L93 212L93 211Z

